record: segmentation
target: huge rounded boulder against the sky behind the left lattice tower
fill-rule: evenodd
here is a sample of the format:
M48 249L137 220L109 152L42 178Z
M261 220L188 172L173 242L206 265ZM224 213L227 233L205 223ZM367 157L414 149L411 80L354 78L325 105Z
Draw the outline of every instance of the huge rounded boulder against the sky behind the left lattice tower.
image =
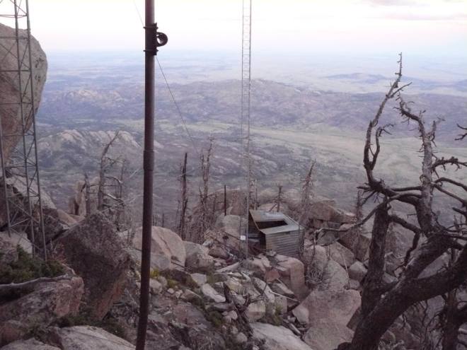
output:
M21 38L25 38L27 35L28 33L25 30L19 30L19 36ZM14 38L15 29L0 23L0 37ZM20 105L18 104L20 98L19 80L18 74L15 72L15 70L18 69L18 61L16 59L16 40L3 40L4 45L0 46L0 57L2 57L0 61L1 127L4 135L14 135L4 138L4 158L8 159L13 147L16 146L18 141L21 139L23 127L21 123ZM25 54L27 47L27 40L19 40L20 56ZM35 112L37 112L42 96L42 89L44 88L47 77L47 57L40 47L38 40L35 40L34 37L31 37L30 53L33 61L33 96L30 94L30 88L27 88L29 86L29 76L28 74L22 74L21 83L23 89L26 91L26 93L23 94L23 100L25 103L28 103L33 97ZM28 55L26 55L26 57L28 57ZM25 122L26 129L29 129L33 119L27 118Z

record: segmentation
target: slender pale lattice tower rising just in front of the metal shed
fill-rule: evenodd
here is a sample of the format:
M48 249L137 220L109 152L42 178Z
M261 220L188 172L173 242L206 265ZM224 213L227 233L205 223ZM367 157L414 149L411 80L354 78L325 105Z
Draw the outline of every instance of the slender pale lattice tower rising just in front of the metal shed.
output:
M243 31L241 49L241 142L246 141L246 257L248 257L248 216L251 192L250 110L251 110L251 9L253 0L243 0ZM244 127L246 123L246 138Z

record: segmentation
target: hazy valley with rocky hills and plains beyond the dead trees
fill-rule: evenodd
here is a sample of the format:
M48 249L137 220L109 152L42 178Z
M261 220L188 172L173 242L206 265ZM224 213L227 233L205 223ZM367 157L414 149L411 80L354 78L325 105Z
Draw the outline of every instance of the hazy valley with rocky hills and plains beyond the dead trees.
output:
M132 179L128 190L138 201L144 102L139 65L117 62L92 71L81 67L78 72L76 67L66 69L59 64L57 69L53 68L52 64L38 116L40 159L47 190L57 203L66 206L74 182L81 180L84 172L96 173L100 152L110 139L104 132L120 130L125 132L124 137L115 143L111 152L129 161L127 172L132 174ZM220 64L217 69L221 71ZM178 66L177 71L185 71L187 76L214 74L202 69L202 62ZM169 65L168 78L171 73ZM185 151L189 153L191 194L197 194L199 156L209 136L215 138L213 189L244 185L240 165L239 81L222 80L229 78L229 74L203 82L191 82L175 75L174 81L178 82L171 83L171 89L190 139L161 74L157 76L155 195L158 210L175 211L179 168ZM337 86L342 80L354 81L351 85L358 90L361 83L384 87L390 77L345 74L327 78ZM456 87L456 93L430 92L449 84ZM300 189L310 162L316 159L316 193L336 199L350 209L356 187L364 178L364 131L383 96L379 88L374 90L345 93L316 90L299 83L253 81L252 153L258 190L278 183L285 188ZM462 83L424 85L422 79L413 79L413 86L407 89L408 98L416 103L415 108L427 110L427 120L445 119L437 134L440 156L445 152L462 156L466 152L465 146L454 142L456 124L463 122L467 115L466 100L459 96L464 90ZM415 184L421 160L413 126L401 124L392 108L386 108L384 123L393 123L394 127L392 135L384 136L379 175L388 183Z

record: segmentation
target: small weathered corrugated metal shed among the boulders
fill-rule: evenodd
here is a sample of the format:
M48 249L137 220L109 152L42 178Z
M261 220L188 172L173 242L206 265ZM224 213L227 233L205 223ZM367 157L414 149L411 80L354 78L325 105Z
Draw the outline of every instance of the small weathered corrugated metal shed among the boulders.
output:
M262 250L297 257L300 228L296 221L280 212L250 210L248 240Z

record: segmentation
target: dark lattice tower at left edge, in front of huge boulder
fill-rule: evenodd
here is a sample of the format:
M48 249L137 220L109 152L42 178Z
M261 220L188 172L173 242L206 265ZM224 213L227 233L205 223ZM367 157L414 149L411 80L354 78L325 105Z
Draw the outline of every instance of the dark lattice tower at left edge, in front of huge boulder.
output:
M28 238L33 252L47 250L40 193L36 139L33 55L28 0L0 0L0 21L13 30L0 36L0 83L13 98L0 100L0 231ZM7 115L16 115L19 126L7 128Z

